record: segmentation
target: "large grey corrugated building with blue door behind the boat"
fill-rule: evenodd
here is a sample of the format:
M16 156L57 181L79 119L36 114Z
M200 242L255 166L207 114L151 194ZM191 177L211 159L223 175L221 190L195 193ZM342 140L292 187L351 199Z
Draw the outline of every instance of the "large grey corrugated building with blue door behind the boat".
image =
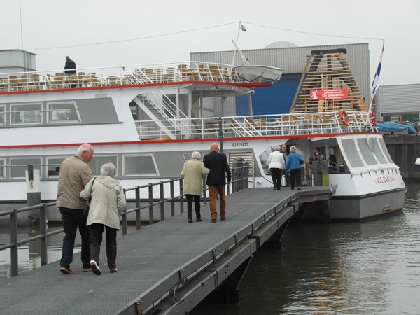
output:
M369 106L370 100L370 54L368 43L325 45L288 48L266 48L257 50L241 50L250 64L276 66L283 69L283 75L274 87L260 88L252 96L253 115L269 115L288 113L293 104L302 73L307 64L307 56L312 50L346 49L346 60L358 84L362 97ZM241 65L241 57L234 51L192 52L191 61L232 64L235 55L235 65ZM236 97L223 102L218 113L209 116L249 115L248 97Z

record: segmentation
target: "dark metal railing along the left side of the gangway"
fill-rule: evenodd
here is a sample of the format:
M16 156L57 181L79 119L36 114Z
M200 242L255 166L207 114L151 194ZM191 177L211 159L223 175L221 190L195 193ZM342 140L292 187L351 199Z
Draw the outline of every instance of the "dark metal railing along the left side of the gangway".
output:
M232 168L232 191L228 186L227 193L237 193L240 190L248 188L248 166L247 165L236 165ZM175 183L179 182L179 194L175 193ZM164 191L165 186L169 185L170 196L165 198ZM158 193L155 193L153 188L158 186ZM203 176L203 202L207 203L207 193L205 186L205 176ZM165 220L165 205L169 204L171 216L175 216L175 202L179 202L180 212L183 213L184 207L184 195L183 195L183 180L169 179L167 181L159 181L157 183L149 183L144 186L135 186L132 188L124 188L124 193L127 191L135 191L134 205L132 209L124 209L121 214L121 230L123 235L127 235L128 214L135 213L136 229L141 229L141 210L148 209L148 224L155 223L154 209L159 207L160 209L160 220ZM143 193L146 190L145 193ZM147 197L142 200L141 197L146 195ZM18 249L22 244L30 243L31 241L41 241L41 266L48 264L48 237L57 235L64 232L64 229L54 230L48 232L48 221L47 221L47 209L49 207L56 207L56 202L48 202L35 204L29 207L22 207L18 209L10 209L8 211L0 212L0 218L3 216L9 216L10 221L10 243L1 244L0 251L10 248L10 275L18 276L19 258ZM39 210L39 235L34 237L28 237L26 239L18 239L18 214L28 211Z

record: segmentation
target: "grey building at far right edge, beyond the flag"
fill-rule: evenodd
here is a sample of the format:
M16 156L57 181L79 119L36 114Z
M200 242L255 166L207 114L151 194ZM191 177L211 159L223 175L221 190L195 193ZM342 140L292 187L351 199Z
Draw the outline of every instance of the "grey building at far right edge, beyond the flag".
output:
M377 118L420 122L420 84L380 86L375 96Z

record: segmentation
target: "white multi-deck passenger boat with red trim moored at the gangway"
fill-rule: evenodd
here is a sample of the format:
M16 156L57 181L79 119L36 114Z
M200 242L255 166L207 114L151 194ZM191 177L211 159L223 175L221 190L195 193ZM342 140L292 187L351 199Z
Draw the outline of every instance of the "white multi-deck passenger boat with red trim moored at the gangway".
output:
M236 96L269 88L239 78L229 65L180 62L78 69L72 76L3 73L1 78L2 203L27 200L27 165L39 172L42 200L55 200L59 165L85 142L94 146L94 175L111 161L117 179L131 188L179 177L190 153L206 154L211 143L222 141L231 164L241 157L251 167L250 187L272 187L267 158L276 145L299 146L305 160L314 146L324 155L334 149L342 167L329 174L328 184L337 185L332 219L402 210L404 181L367 113L348 111L346 125L336 111L218 115L223 107L235 108Z

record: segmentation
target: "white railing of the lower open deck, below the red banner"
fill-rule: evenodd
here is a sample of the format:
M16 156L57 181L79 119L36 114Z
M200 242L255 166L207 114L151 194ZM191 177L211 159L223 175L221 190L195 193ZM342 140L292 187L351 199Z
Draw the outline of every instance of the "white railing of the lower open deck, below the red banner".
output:
M180 118L170 124L155 120L137 120L135 123L140 140L218 138L221 132L228 138L377 131L369 113L354 111L347 112L347 116L347 124L338 112Z

